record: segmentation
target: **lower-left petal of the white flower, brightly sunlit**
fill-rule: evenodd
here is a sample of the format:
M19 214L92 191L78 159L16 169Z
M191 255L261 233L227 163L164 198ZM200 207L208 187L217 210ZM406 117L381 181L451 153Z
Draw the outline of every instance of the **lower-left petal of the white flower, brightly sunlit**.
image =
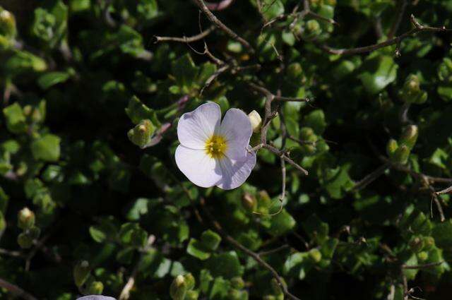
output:
M179 145L175 156L177 167L196 186L209 188L215 186L222 178L220 166L206 154L206 150L195 150Z

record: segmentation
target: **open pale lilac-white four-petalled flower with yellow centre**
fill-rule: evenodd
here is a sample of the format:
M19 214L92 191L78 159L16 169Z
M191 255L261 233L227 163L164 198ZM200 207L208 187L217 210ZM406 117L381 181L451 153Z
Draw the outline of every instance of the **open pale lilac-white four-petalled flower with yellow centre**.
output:
M177 167L197 186L237 188L256 164L256 154L247 151L251 134L249 117L240 109L229 109L221 121L218 104L202 104L177 124Z

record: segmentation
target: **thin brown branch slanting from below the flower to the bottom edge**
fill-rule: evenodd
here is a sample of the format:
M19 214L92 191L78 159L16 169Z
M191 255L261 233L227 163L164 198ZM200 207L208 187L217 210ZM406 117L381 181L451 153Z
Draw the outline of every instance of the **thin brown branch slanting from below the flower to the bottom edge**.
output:
M278 282L278 285L280 286L281 290L283 291L283 294L285 294L285 296L288 299L300 300L297 296L295 296L289 292L289 290L287 289L287 285L283 281L283 277L281 277L278 274L278 272L271 265L269 265L265 260L263 260L261 258L261 256L258 255L258 253L249 250L249 248L246 248L245 246L240 244L232 236L227 234L224 229L222 229L221 224L217 220L215 220L213 215L210 214L210 211L208 210L208 208L206 208L206 203L203 198L200 199L200 203L201 203L201 208L202 208L203 212L206 214L206 216L208 217L210 222L213 224L213 227L215 228L215 230L223 237L223 239L225 239L225 241L232 244L232 246L239 249L240 251L245 253L247 256L250 256L251 258L253 258L256 261L256 263L258 263L258 265L261 265L261 267L266 268L266 270L268 270L271 273L271 275L273 275L275 280Z

